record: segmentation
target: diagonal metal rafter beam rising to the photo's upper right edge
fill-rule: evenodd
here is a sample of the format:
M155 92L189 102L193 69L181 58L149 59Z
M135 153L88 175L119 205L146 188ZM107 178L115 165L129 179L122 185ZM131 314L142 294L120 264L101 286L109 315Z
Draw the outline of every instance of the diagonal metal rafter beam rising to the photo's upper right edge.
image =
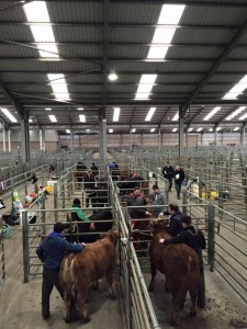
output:
M202 81L198 84L191 97L188 99L188 101L182 105L182 116L186 114L187 109L190 106L190 104L194 101L197 95L200 93L202 88L206 84L206 82L210 80L210 78L217 71L218 67L222 65L222 63L227 58L229 53L236 47L238 42L242 39L242 37L247 32L247 20L243 24L243 26L237 31L237 33L233 36L233 38L229 41L223 53L220 55L217 60L214 63L214 65L211 67L211 69L207 71L205 77L202 79ZM242 73L243 75L243 73Z

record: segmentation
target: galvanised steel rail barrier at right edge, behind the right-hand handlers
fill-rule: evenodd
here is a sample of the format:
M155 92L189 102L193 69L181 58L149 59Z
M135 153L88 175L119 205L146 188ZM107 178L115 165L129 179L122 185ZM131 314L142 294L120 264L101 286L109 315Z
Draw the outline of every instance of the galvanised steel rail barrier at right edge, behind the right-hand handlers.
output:
M210 270L227 282L247 303L247 237L246 220L213 204L183 191L187 214L204 229L207 238L207 262Z

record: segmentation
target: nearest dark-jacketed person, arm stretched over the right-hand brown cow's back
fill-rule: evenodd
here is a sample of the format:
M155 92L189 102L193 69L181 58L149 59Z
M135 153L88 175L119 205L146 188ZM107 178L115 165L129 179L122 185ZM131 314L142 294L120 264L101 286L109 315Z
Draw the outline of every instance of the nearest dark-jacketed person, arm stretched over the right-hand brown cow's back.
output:
M164 243L164 245L186 243L198 253L200 273L201 273L201 280L198 288L198 306L204 308L205 307L205 281L204 281L204 271L203 271L202 249L205 249L206 247L205 237L200 229L192 226L190 216L183 215L181 217L181 224L183 230L180 234L169 239L160 239L159 243Z

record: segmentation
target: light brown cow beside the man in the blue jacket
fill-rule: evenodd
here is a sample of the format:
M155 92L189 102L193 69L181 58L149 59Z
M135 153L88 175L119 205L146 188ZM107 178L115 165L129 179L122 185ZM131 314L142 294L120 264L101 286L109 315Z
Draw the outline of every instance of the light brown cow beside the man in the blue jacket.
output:
M117 238L119 232L110 229L101 240L88 243L81 252L65 256L60 265L60 283L65 291L65 321L70 320L75 299L85 321L90 321L86 307L90 282L105 276L110 294L115 298L112 284Z

